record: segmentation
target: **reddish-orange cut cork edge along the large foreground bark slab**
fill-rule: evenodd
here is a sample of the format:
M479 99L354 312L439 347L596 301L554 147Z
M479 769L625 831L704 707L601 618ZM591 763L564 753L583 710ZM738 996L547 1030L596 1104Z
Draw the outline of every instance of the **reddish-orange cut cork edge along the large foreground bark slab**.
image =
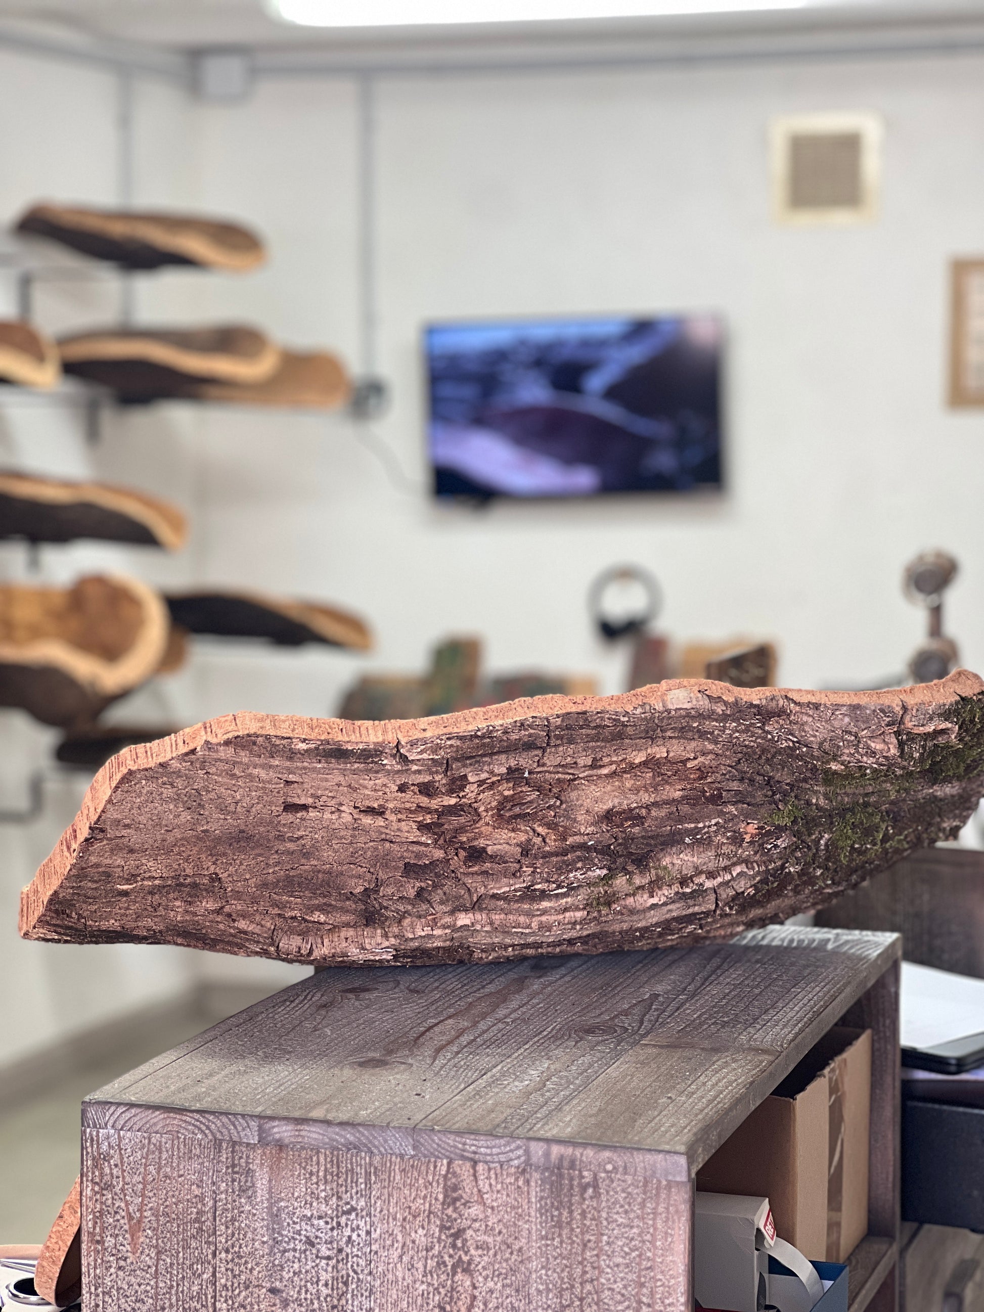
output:
M631 693L614 697L523 697L499 706L482 706L450 715L434 715L417 720L338 720L315 719L302 715L265 715L256 711L236 711L214 720L193 724L169 737L154 743L136 743L110 757L94 777L79 808L50 857L38 869L34 879L21 890L20 933L31 937L31 930L47 900L71 870L76 853L98 821L113 791L134 770L150 770L155 765L173 761L195 752L206 743L227 743L245 736L307 739L310 741L388 743L392 747L412 739L464 735L492 724L513 720L558 716L572 711L635 711L639 707L682 708L699 701L769 702L782 698L796 705L892 707L901 718L908 710L924 706L951 706L958 698L975 697L984 691L984 680L970 670L958 669L933 684L911 687L876 689L865 691L830 691L799 687L732 687L708 678L669 678Z

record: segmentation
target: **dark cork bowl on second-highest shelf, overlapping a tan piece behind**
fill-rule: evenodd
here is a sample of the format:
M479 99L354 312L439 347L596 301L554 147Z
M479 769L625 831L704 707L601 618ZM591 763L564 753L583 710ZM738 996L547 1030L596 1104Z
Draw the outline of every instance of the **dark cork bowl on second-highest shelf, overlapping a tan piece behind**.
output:
M264 383L282 352L257 328L112 328L58 342L62 367L109 387L125 403L195 396L201 383Z

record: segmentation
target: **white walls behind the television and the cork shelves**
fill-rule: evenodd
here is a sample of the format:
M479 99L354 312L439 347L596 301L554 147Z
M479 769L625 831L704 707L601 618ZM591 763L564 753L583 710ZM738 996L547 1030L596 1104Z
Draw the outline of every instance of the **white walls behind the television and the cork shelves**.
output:
M3 213L41 194L114 199L113 80L3 59L3 121L43 123L30 142L0 134ZM52 110L67 101L71 114ZM35 105L47 118L25 112ZM768 121L832 109L884 115L882 218L775 227ZM966 664L984 665L984 432L977 413L943 405L947 260L984 249L984 60L391 76L375 85L375 112L379 366L394 405L374 433L420 492L395 487L340 416L157 407L112 420L92 453L62 420L34 416L22 438L4 420L5 459L92 468L193 517L181 558L73 547L46 552L51 577L97 562L159 583L321 597L359 610L378 635L369 659L202 644L178 676L119 703L118 719L331 714L359 670L417 669L451 631L484 634L495 669L589 672L615 691L623 653L594 639L584 598L617 560L657 573L674 636L773 635L782 681L816 686L903 668L922 617L900 594L900 569L941 546L963 564L950 626ZM139 81L135 199L240 215L273 252L245 278L146 279L140 315L244 318L358 365L357 143L350 80L268 80L232 106ZM45 314L52 327L91 323L97 294L46 294ZM424 321L701 308L729 325L724 497L474 512L422 491ZM22 567L14 548L3 560L8 575ZM14 729L41 758L51 735ZM9 792L20 760L9 753ZM202 970L253 970L164 949L17 942L14 891L77 789L54 792L43 823L0 828L0 993L22 1006L21 1019L0 1021L8 1051Z

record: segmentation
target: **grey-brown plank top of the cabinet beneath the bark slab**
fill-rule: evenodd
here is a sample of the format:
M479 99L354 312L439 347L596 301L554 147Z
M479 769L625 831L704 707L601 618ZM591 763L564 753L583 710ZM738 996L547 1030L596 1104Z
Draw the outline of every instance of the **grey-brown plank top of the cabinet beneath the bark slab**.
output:
M892 935L773 928L653 953L323 971L93 1094L85 1123L188 1109L184 1132L232 1140L256 1141L262 1119L281 1143L320 1124L371 1151L366 1127L384 1127L685 1155L695 1170L897 954Z

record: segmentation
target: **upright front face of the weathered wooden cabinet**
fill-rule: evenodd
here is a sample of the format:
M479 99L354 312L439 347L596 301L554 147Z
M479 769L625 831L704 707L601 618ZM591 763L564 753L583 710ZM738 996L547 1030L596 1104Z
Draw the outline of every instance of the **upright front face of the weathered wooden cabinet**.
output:
M690 1183L85 1130L87 1312L689 1312Z

